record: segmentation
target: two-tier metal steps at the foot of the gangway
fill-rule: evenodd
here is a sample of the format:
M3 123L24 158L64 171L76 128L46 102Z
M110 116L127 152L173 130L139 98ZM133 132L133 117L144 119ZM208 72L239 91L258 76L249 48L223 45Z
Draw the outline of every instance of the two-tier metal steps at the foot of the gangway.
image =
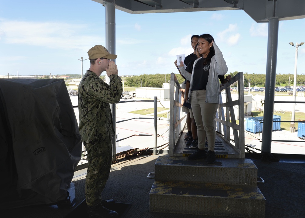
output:
M159 157L149 194L150 211L222 217L265 217L251 159Z

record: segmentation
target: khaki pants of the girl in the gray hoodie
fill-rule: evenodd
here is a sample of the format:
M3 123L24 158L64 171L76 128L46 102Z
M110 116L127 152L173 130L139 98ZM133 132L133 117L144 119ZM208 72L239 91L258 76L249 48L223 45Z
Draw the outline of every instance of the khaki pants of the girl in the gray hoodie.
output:
M204 149L207 138L208 150L214 151L216 139L214 119L218 104L206 103L206 90L195 90L191 93L191 105L197 125L198 148Z

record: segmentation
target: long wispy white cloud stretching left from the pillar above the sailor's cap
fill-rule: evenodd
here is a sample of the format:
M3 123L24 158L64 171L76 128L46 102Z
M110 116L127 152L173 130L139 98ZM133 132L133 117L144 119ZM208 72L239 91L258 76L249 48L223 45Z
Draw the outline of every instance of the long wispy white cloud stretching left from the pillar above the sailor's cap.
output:
M43 46L54 49L85 49L103 40L100 36L81 35L85 24L59 22L0 22L3 41L6 44ZM1 32L0 32L1 34Z

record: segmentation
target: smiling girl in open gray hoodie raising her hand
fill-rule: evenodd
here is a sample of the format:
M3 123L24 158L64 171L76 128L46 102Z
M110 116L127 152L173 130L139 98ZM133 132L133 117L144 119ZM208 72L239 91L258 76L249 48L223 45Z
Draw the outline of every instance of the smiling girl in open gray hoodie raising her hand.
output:
M216 139L214 119L220 104L218 75L225 75L228 67L210 34L199 36L197 48L203 57L194 62L192 74L185 71L183 62L179 66L181 74L190 81L187 102L191 103L198 132L198 149L188 159L207 157L206 162L213 163ZM206 138L208 139L207 153L204 150Z

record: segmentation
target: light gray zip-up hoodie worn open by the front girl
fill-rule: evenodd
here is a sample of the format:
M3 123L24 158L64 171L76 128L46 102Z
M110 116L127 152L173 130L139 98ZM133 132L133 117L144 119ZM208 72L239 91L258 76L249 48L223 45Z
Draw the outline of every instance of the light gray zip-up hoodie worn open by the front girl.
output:
M211 58L211 64L210 64L210 71L209 71L209 80L206 84L206 103L217 103L220 104L220 98L219 98L219 78L218 75L225 75L228 72L227 64L224 60L224 57L222 55L222 52L219 50L216 43L213 43L214 49L215 49L215 55ZM200 58L195 60L193 65L193 72L190 74L189 72L185 71L185 67L179 66L179 70L181 74L190 81L190 89L192 90L192 84L193 84L193 75L194 75L194 67L195 64L198 62ZM195 81L196 82L196 81ZM187 102L191 102L191 91L188 92L188 100Z

